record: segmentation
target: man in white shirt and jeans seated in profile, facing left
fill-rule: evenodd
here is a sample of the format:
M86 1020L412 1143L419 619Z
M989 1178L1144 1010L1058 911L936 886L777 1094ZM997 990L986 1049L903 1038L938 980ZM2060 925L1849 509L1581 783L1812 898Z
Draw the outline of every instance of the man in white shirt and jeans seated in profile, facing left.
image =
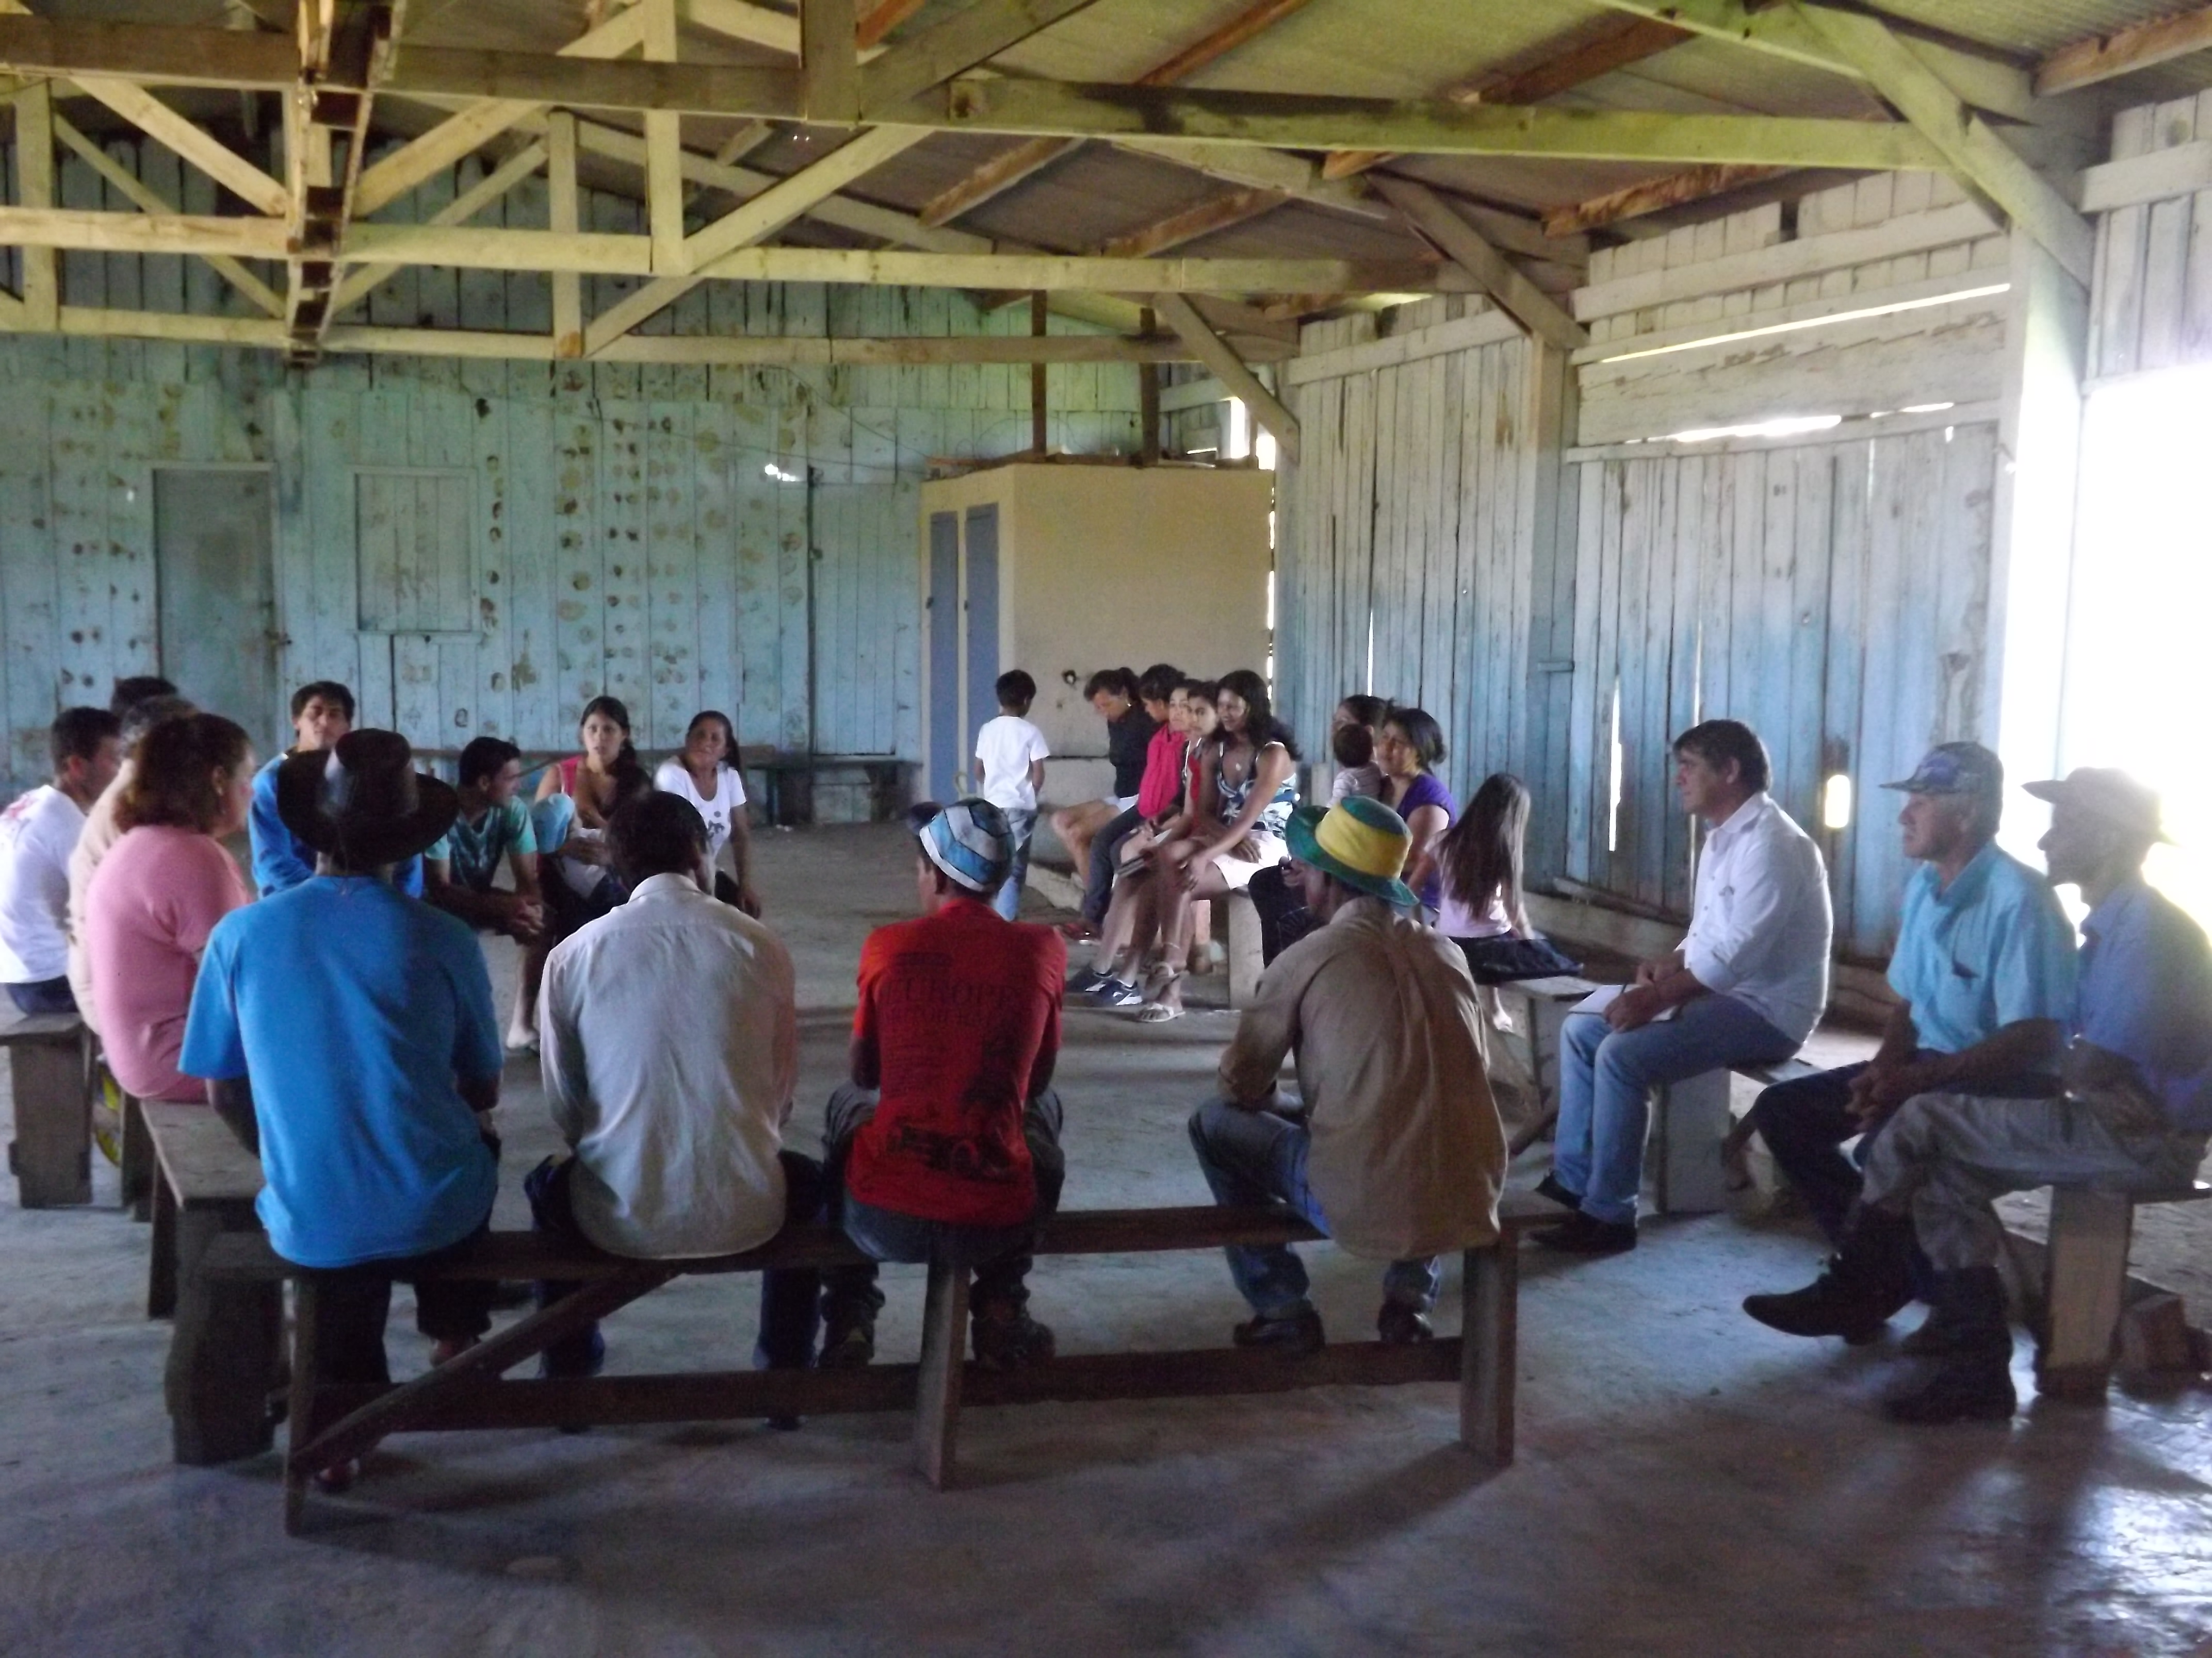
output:
M1559 1032L1559 1141L1537 1187L1575 1209L1548 1249L1637 1247L1650 1090L1723 1066L1790 1059L1827 1006L1834 913L1812 836L1767 794L1765 743L1741 721L1674 738L1674 791L1705 820L1690 933L1637 968L1604 1012Z

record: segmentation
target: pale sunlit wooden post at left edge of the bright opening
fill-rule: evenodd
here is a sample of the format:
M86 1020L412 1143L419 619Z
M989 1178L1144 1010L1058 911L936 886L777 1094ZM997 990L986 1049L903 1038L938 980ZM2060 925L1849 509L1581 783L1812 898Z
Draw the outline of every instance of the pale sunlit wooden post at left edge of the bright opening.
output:
M2048 778L2059 763L2088 294L2026 230L2013 230L2011 281L1980 738L2011 776ZM2033 856L2044 822L2044 807L2013 807L2000 840Z

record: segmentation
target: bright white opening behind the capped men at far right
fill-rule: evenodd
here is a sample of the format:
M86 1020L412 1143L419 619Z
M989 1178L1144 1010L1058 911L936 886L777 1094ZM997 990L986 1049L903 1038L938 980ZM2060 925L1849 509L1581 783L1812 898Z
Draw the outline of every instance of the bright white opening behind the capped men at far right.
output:
M2203 765L2208 451L2208 367L2146 374L2088 396L2059 763L2117 765L2163 796L2174 844L2152 849L2150 878L2212 924L2212 772Z

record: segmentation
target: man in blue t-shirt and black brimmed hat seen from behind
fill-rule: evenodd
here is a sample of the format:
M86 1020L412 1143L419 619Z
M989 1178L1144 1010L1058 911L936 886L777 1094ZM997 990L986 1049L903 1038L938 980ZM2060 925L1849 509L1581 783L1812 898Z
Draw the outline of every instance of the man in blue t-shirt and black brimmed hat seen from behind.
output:
M330 1382L387 1382L392 1280L491 1222L500 1026L476 935L392 884L442 836L453 791L414 772L398 732L349 732L276 772L283 827L316 853L305 882L208 937L181 1070L261 1154L254 1205L276 1253L314 1269ZM493 1284L418 1282L416 1324L445 1362L491 1329ZM307 1424L296 1424L305 1428ZM323 1470L325 1486L352 1466Z

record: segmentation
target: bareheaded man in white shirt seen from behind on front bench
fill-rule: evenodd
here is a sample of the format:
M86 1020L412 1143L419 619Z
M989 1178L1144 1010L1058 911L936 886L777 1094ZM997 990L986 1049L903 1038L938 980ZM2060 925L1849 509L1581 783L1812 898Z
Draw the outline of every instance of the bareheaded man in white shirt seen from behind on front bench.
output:
M546 959L538 1050L573 1156L522 1189L542 1231L637 1260L754 1249L821 1207L821 1165L781 1150L799 1081L783 942L708 891L706 820L646 794L608 825L630 900ZM540 1304L575 1284L540 1284ZM818 1273L761 1282L763 1368L814 1357ZM593 1375L597 1329L546 1349L546 1375Z

